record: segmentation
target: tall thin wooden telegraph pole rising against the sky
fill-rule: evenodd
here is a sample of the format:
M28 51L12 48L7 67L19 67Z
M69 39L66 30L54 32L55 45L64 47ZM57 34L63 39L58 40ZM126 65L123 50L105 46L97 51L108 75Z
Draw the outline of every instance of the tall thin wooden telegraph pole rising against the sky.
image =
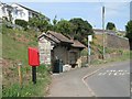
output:
M102 45L103 45L103 55L102 55L103 57L102 58L105 59L105 54L106 54L106 50L105 50L106 48L106 43L105 43L106 42L106 40L105 40L105 7L102 7L102 32L103 32L102 33L102 38L103 38L102 40L102 42L103 42L102 43Z

